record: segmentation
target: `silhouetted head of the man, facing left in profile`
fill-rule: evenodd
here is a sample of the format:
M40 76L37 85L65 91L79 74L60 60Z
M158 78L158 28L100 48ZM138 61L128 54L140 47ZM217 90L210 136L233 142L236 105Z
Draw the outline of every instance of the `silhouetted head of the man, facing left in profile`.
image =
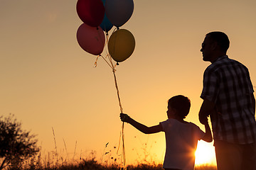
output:
M229 45L228 35L223 32L214 31L206 34L200 50L203 53L203 61L214 62L218 57L226 55Z

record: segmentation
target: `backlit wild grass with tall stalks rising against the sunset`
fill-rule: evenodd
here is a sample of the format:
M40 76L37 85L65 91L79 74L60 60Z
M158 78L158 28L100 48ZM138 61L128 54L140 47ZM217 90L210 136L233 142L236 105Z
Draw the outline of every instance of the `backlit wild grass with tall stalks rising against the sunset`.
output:
M53 128L52 128L53 129ZM53 139L55 142L55 133L53 130ZM63 139L64 145L65 140ZM77 142L76 142L77 144ZM26 160L18 165L8 166L6 170L120 170L122 169L120 158L112 157L112 151L105 150L100 162L96 159L96 152L92 151L86 158L75 159L76 144L73 159L69 159L67 147L65 145L66 157L61 156L61 153L57 151L57 145L55 142L55 151L48 152L42 157L42 153L39 152L35 157ZM149 151L146 148L147 145L142 145L144 151L144 159L138 161L137 164L127 165L127 170L163 170L162 164L156 164L154 161L147 161ZM114 147L117 149L117 147ZM114 151L115 152L115 151ZM195 170L217 170L216 166L205 164L196 166Z

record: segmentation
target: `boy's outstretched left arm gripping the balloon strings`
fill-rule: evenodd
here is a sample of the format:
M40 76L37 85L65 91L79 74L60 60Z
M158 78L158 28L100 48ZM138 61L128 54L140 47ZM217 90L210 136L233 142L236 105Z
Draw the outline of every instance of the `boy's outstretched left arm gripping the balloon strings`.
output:
M137 130L139 130L145 134L151 134L151 133L163 131L160 124L154 125L151 127L147 127L146 125L143 125L142 123L138 123L136 120L130 118L127 114L124 114L124 113L120 113L120 118L123 122L131 124L134 128L137 128Z

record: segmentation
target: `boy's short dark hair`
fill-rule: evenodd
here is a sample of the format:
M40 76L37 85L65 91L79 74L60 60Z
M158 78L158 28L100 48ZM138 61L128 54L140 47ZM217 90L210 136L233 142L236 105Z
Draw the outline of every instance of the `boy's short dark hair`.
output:
M186 96L178 95L169 99L168 106L176 109L181 118L186 118L191 107L191 101Z

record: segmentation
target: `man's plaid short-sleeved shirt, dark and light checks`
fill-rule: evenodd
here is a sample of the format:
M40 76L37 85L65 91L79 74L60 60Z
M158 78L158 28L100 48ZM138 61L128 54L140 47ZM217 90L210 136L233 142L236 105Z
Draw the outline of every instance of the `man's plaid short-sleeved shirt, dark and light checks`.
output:
M201 98L215 103L210 114L214 140L249 144L256 141L253 86L247 67L228 56L218 58L203 74Z

